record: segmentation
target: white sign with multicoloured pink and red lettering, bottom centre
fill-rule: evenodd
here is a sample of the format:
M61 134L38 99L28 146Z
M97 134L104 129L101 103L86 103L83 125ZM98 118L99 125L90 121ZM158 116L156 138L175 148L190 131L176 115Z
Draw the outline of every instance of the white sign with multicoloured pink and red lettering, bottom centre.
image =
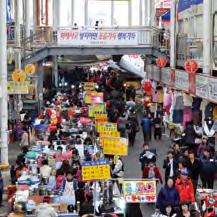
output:
M127 203L156 202L156 181L124 181L123 189Z

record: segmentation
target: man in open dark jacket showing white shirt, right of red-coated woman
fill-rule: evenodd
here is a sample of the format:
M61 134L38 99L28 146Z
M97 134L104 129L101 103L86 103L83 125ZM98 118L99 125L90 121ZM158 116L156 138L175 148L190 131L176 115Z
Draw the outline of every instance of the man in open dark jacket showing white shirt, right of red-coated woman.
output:
M172 151L167 152L167 159L164 160L163 168L165 169L165 182L167 182L168 177L175 178L177 162L174 160L174 155Z

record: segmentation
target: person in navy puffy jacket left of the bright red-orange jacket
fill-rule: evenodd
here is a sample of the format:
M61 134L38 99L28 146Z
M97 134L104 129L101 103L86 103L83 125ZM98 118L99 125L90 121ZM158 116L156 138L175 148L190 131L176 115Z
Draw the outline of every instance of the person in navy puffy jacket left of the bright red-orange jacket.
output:
M165 186L161 188L158 197L156 207L164 213L168 205L172 208L178 207L180 202L179 193L175 187L174 179L169 177Z

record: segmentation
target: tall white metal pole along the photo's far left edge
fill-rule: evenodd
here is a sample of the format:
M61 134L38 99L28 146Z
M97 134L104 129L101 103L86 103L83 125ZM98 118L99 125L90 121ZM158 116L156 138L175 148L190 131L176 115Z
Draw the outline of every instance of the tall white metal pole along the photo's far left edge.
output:
M8 164L8 88L6 0L0 1L1 162Z

